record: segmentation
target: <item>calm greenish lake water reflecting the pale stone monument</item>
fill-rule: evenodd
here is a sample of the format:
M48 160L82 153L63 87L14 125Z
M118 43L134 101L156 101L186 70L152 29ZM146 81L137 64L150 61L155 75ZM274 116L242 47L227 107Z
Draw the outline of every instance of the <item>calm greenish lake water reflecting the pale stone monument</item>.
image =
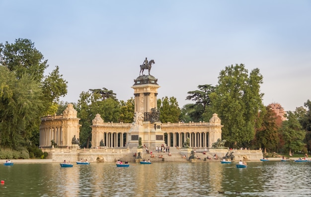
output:
M310 197L311 162L59 163L0 165L0 196L10 197ZM223 191L224 194L219 194ZM241 194L236 194L241 192Z

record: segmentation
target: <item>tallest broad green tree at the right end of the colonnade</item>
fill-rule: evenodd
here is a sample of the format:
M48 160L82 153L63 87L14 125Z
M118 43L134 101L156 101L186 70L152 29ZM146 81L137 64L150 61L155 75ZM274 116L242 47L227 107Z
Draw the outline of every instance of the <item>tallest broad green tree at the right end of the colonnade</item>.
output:
M222 120L222 137L230 145L242 146L254 137L258 112L264 109L260 93L262 75L259 69L245 66L226 66L220 72L216 91L210 94L210 113L217 113Z

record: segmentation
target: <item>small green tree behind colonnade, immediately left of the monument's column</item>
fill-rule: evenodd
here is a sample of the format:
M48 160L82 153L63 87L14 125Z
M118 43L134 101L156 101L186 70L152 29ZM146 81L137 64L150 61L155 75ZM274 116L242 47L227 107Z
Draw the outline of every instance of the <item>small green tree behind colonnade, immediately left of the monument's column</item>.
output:
M121 109L120 109L120 118L119 122L123 123L132 123L134 120L134 108L135 108L135 100L131 97L126 102L120 101Z

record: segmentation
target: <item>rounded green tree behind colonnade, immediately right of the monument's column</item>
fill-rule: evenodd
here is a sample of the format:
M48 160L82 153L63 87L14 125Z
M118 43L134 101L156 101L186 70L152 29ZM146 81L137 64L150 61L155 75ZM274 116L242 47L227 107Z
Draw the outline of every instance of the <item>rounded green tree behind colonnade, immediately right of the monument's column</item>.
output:
M163 97L157 100L157 109L160 111L159 121L162 123L178 123L181 111L175 97Z

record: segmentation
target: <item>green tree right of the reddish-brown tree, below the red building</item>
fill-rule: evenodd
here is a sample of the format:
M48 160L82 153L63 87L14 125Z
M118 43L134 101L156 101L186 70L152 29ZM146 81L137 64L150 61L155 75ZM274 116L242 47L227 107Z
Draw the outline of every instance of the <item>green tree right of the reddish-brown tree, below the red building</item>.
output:
M306 144L303 142L306 132L302 129L295 112L287 112L287 120L283 121L280 132L285 140L284 146L289 151L289 154L292 151L307 151Z

